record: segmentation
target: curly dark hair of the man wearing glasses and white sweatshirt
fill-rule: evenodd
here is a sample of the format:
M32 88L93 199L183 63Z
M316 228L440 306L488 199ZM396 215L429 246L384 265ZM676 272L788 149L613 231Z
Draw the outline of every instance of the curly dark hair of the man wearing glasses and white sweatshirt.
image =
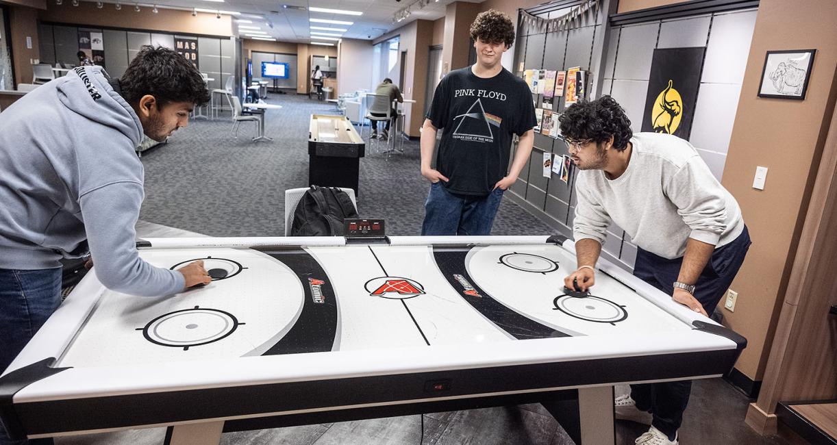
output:
M622 105L608 95L570 105L558 122L561 134L577 141L592 139L598 144L614 136L614 148L619 151L627 148L634 136Z

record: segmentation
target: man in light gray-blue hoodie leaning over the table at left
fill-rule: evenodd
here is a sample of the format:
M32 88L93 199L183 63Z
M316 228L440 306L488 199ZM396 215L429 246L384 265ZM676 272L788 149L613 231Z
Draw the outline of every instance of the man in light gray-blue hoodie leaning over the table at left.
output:
M109 289L167 295L211 280L203 263L179 270L143 261L134 226L144 197L134 147L165 141L209 100L194 65L143 47L121 79L72 69L0 119L0 372L61 302L60 258L90 252ZM9 442L0 428L0 444ZM25 443L25 442L15 442Z

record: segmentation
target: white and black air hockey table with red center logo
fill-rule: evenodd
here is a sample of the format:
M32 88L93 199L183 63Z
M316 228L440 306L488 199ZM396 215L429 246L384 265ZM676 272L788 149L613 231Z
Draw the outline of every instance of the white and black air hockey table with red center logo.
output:
M0 377L13 437L222 432L542 402L614 442L613 385L721 376L746 340L607 261L567 294L558 236L155 238L213 281L135 297L95 268Z

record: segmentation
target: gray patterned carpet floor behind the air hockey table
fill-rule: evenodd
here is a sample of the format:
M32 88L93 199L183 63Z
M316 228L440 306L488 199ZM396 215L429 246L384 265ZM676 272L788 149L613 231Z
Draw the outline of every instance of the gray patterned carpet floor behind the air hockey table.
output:
M229 113L223 119L190 120L167 144L142 155L146 201L141 219L211 236L277 236L285 233L285 189L308 185L308 123L311 114L336 114L307 96L270 95L267 136L253 142L255 124L243 122L238 138ZM429 182L419 174L419 142L403 154L371 153L361 159L362 217L383 217L390 235L419 235ZM495 235L550 234L552 229L512 203L501 203Z

